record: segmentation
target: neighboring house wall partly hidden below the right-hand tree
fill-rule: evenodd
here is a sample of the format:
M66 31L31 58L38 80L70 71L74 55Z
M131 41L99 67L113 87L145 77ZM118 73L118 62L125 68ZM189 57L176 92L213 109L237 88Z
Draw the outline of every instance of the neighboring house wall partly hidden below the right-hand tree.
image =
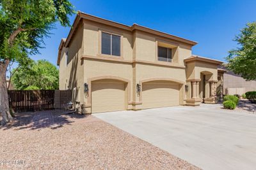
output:
M218 74L223 76L222 90L224 95L242 95L248 91L256 90L256 81L246 81L234 72L228 71L225 66L219 66Z

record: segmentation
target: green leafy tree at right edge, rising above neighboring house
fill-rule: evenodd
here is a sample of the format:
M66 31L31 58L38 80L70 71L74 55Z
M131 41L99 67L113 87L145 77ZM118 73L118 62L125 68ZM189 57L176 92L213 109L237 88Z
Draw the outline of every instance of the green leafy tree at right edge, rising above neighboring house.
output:
M256 22L246 24L235 41L239 47L229 52L228 69L246 80L256 80Z

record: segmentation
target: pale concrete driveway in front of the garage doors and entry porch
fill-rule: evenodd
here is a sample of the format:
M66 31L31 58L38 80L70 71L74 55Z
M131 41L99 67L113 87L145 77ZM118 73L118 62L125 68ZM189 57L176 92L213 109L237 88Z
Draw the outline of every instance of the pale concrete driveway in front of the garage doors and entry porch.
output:
M94 116L202 169L256 169L256 114L204 104Z

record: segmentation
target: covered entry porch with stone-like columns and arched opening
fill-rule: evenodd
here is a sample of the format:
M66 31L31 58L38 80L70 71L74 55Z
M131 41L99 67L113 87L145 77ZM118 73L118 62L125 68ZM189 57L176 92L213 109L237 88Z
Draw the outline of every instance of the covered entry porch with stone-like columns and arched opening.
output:
M186 62L186 105L216 103L218 65L223 62L195 55L184 61Z

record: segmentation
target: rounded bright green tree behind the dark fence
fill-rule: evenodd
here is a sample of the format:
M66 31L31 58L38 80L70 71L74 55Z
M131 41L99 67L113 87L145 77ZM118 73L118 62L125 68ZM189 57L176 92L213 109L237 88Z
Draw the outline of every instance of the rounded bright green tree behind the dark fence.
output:
M13 74L12 83L17 90L58 89L59 71L51 62L38 60L29 66L19 67Z

